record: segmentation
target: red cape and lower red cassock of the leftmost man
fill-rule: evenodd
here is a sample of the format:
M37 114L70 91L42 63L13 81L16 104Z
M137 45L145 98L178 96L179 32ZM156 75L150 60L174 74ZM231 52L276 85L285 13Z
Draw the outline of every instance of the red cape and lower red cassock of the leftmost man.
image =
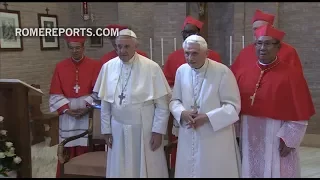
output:
M50 87L50 94L63 94L66 98L79 98L81 96L90 95L99 74L99 61L84 57L79 63L71 58L65 59L56 65ZM76 93L74 86L76 85L76 69L78 69L78 85L79 92ZM63 110L68 109L68 105L64 105L58 109L61 114ZM96 146L95 150L103 150L103 146ZM66 147L70 158L79 156L88 152L88 147ZM60 164L57 166L57 177L60 176Z

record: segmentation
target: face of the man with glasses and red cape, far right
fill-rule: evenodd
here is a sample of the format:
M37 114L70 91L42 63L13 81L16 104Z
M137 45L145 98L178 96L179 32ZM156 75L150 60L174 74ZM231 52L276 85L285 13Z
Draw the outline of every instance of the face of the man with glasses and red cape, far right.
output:
M271 63L280 49L279 41L270 36L260 36L256 42L256 53L262 63Z

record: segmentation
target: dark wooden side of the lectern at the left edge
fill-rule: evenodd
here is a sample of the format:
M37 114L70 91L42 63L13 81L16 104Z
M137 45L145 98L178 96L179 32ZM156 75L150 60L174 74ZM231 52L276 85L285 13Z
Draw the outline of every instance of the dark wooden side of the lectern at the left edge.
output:
M0 113L4 116L4 126L12 138L16 153L22 158L18 177L31 178L31 143L28 112L28 89L17 83L2 83ZM4 98L5 97L5 98Z

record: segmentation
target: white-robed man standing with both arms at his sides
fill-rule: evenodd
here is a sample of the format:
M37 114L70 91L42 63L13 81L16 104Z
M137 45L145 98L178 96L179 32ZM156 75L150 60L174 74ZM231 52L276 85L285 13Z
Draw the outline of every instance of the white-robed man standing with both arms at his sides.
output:
M109 147L106 177L167 178L170 87L160 66L136 53L133 31L121 30L116 46L119 56L102 66L94 87Z

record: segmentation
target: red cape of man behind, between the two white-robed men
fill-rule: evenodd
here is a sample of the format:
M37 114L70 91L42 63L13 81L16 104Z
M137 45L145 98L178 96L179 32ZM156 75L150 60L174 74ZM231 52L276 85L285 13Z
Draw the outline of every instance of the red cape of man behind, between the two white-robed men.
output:
M220 55L210 49L208 49L208 58L217 62L221 62ZM186 59L184 57L183 48L176 50L168 56L168 59L163 67L163 73L166 76L170 86L174 85L177 69L184 63L186 63Z

